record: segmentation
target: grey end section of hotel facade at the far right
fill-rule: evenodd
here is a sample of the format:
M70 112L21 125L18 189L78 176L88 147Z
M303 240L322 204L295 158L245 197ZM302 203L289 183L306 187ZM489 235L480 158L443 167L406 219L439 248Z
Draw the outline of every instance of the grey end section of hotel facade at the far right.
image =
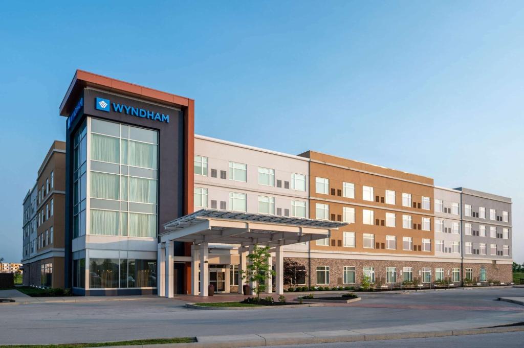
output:
M510 282L511 199L469 188L462 192L464 278Z

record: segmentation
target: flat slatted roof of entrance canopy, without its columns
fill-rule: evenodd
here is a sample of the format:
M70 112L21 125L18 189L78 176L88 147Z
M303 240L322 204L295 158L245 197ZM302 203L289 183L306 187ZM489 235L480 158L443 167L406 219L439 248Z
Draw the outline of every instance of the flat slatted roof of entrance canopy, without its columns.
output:
M281 246L328 238L345 222L201 209L164 224L160 242Z

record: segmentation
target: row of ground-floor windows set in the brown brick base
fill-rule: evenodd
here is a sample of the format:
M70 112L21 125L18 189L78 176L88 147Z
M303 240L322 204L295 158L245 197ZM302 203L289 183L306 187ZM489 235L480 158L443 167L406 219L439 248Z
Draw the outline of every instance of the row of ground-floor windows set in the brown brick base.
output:
M375 283L375 267L362 267L363 276L369 279L371 283ZM316 266L315 270L316 275L316 284L317 285L329 285L330 284L330 266ZM422 283L431 283L431 268L423 267L419 271L421 275ZM451 275L452 282L460 282L460 268L453 268L447 272L447 275ZM304 282L303 284L296 285L305 285L305 277L301 278ZM436 267L435 276L433 281L440 282L445 279L444 268ZM473 269L465 268L465 279L473 280ZM479 282L486 282L487 280L487 271L485 268L481 268L479 277ZM413 267L402 267L398 270L397 277L397 267L386 267L386 284L396 284L397 282L412 282L413 281ZM344 266L343 269L343 283L344 285L351 285L356 283L356 267L354 266Z

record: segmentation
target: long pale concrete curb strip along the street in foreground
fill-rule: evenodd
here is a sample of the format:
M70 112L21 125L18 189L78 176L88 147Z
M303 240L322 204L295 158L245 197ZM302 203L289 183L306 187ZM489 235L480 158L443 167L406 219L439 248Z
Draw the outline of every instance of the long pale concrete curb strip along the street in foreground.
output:
M363 334L348 330L338 331L319 331L319 332L290 332L290 333L269 333L269 334L246 334L231 336L201 336L194 343L167 343L167 344L144 344L127 346L105 346L99 348L239 348L239 347L260 347L286 344L319 344L319 343L342 343L342 342L363 342L381 340L401 340L412 338L430 338L443 336L462 336L486 333L503 333L524 331L524 326L500 327L500 328L479 328L465 330L440 330L440 331L420 331L420 332L395 332L395 333L375 333Z

